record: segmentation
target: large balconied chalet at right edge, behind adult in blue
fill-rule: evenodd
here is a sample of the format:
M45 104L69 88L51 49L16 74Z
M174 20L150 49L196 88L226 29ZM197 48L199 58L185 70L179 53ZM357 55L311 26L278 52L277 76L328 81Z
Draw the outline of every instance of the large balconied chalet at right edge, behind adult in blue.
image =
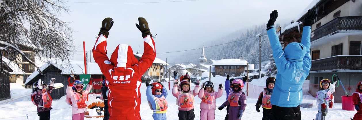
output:
M317 11L317 18L311 26L312 67L307 78L310 79L310 84L316 84L310 86L309 92L312 96L315 96L320 88L319 81L332 81L334 74L341 79L349 95L354 92L358 81L362 81L361 6L361 0L315 0L299 15L296 22L292 22L278 33L284 47L291 42L300 42L302 22L308 9ZM333 80L336 81L336 76ZM341 97L336 97L335 100L340 103Z

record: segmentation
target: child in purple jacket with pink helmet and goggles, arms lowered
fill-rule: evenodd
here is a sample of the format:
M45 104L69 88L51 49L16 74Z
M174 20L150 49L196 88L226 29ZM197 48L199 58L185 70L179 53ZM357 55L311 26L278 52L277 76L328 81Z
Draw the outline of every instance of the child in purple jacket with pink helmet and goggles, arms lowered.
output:
M245 107L247 106L247 97L243 91L243 80L235 79L232 81L233 91L228 94L228 100L225 101L219 110L223 110L224 107L230 105L228 120L241 120Z

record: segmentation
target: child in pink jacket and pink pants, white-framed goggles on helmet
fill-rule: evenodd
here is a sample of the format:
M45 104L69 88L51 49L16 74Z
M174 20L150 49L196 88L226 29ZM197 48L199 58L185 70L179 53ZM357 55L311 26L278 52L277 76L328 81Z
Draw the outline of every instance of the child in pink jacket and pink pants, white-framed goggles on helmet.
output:
M200 103L200 119L201 120L215 120L215 110L216 110L216 98L219 98L223 95L223 85L219 84L218 92L214 91L214 83L211 81L206 81L202 84L202 89L200 90L198 96L202 100Z

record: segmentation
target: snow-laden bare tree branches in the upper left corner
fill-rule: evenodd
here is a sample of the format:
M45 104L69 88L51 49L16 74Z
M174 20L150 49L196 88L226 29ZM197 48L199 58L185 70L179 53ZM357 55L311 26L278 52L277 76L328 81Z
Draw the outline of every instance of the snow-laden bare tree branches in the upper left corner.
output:
M22 50L34 52L43 62L55 58L69 63L76 48L68 22L58 18L62 12L70 13L61 0L0 0L0 65L6 56L15 63L24 58L37 67Z

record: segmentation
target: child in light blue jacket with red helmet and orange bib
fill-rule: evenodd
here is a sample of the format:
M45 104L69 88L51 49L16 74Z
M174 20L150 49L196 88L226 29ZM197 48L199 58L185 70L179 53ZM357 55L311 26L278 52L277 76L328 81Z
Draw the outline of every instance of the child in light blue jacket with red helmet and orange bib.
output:
M146 96L148 105L153 110L153 120L167 120L167 89L163 87L161 82L149 84L146 81Z

